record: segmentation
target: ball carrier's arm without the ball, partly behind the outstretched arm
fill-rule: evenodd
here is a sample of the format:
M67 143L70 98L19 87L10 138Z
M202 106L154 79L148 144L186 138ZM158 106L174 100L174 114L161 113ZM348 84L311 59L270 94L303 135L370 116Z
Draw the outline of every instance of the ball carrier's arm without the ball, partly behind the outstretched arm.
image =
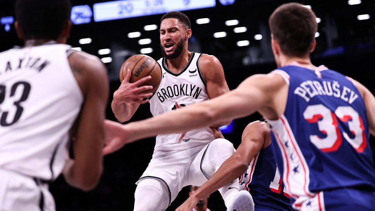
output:
M199 69L201 69L203 78L206 82L206 90L208 98L216 98L217 96L223 95L229 92L228 84L226 84L223 66L219 59L215 56L203 54L199 59ZM223 125L229 125L232 119L226 121L217 122L211 127L221 127Z

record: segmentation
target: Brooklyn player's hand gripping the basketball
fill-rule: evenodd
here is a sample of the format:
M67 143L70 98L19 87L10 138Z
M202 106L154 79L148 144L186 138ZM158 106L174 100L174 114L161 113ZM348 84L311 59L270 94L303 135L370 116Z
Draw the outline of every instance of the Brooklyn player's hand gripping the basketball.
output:
M127 74L124 80L122 81L120 87L113 93L113 99L115 101L129 103L129 102L138 102L139 104L145 104L148 102L148 99L142 100L152 96L152 93L144 93L147 90L151 90L152 86L140 86L146 81L151 79L151 76L141 78L134 83L129 83L131 73L130 69L127 69ZM139 86L139 87L138 87Z

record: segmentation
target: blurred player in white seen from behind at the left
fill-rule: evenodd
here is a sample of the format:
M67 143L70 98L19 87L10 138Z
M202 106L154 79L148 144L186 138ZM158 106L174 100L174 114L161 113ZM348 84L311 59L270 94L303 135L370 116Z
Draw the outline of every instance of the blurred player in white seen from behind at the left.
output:
M84 191L101 176L107 70L65 44L69 0L18 0L15 8L24 47L0 53L0 210L54 211L48 183L64 167L66 182Z

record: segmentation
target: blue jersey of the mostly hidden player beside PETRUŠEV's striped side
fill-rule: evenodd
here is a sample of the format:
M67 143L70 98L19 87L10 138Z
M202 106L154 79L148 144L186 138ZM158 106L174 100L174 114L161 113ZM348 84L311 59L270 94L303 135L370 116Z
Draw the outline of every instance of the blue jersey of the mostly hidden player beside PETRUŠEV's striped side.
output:
M248 170L239 178L240 189L251 193L255 211L293 210L290 199L273 157L272 147L261 149L249 164Z

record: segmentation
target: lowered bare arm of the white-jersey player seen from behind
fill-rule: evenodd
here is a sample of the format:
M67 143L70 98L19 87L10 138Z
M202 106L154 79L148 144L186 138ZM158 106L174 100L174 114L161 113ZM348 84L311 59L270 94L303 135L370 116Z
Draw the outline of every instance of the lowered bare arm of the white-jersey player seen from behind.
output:
M108 76L104 64L95 56L76 52L69 56L72 71L84 96L74 135L74 163L63 172L68 184L91 190L102 174L105 108L108 101Z

